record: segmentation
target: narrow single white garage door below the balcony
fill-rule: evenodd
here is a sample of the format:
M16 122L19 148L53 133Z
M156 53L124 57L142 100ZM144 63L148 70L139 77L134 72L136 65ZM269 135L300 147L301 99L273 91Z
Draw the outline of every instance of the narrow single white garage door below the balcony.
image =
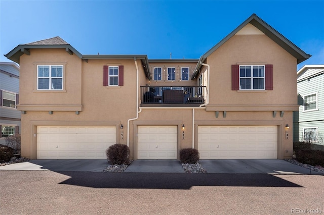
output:
M138 159L177 159L177 126L138 126Z

